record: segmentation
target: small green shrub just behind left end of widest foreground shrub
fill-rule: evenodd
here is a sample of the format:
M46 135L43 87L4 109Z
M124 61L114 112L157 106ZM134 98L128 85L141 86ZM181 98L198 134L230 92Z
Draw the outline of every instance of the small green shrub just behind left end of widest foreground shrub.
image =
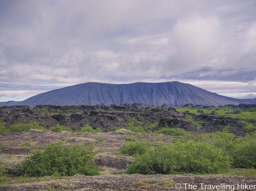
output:
M148 142L141 141L135 143L123 144L121 149L121 154L134 155L139 154L143 155L150 150L150 145Z

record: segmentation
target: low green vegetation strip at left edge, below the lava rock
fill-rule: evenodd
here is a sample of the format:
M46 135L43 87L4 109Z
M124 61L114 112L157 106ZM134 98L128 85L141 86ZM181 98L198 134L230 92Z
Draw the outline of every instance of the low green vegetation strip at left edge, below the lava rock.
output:
M3 121L1 124L5 124ZM30 122L28 124L15 124L15 125L7 125L3 126L0 125L0 133L9 133L9 132L23 132L23 131L28 131L30 129L38 129L38 130L46 130L43 126L40 126L36 122Z

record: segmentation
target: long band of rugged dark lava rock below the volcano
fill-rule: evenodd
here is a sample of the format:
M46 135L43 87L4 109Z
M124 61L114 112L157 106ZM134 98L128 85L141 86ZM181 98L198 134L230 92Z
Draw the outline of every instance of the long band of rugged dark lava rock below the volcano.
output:
M3 106L7 107L7 106ZM0 111L1 111L0 107ZM53 113L41 113L40 108L47 108ZM201 106L200 106L201 108ZM60 112L55 114L54 112ZM37 111L37 112L36 112ZM39 113L38 113L39 111ZM73 111L70 113L70 111ZM189 122L186 115L189 114L197 123L202 126L197 128L196 124ZM115 128L129 128L127 120L132 120L134 126L143 126L138 122L158 123L157 127L151 131L165 127L182 128L189 132L216 132L222 131L225 126L230 126L230 131L236 135L244 135L244 123L239 122L239 118L231 118L216 115L216 111L209 114L195 115L187 112L178 112L175 108L166 108L160 106L138 104L123 105L75 105L75 106L55 106L55 105L38 105L33 108L27 106L8 106L5 112L1 112L5 125L30 123L35 121L45 128L51 128L56 124L69 126L71 129L81 129L88 124L93 129L100 128L102 132L113 131ZM140 119L141 120L141 119ZM15 135L16 136L16 135ZM18 135L17 135L18 136Z

